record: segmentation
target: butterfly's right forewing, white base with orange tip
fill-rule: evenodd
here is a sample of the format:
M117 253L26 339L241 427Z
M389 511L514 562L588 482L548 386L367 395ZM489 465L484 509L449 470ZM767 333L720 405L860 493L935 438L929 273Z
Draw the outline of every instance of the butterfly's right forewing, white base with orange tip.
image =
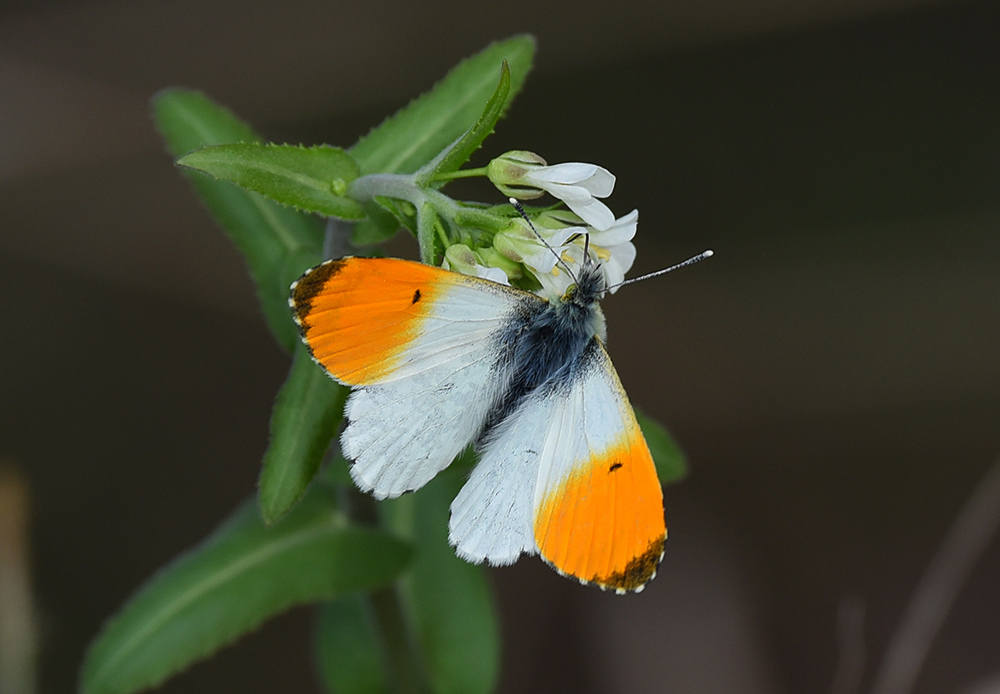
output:
M611 358L596 340L581 359L566 410L540 460L533 526L539 552L581 581L641 590L663 558L663 492Z

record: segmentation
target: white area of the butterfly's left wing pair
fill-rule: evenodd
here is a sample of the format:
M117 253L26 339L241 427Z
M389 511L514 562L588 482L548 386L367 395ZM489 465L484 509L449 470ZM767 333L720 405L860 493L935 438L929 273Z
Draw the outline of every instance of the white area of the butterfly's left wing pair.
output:
M392 373L351 394L341 446L361 489L380 499L419 489L482 430L507 388L497 336L524 301L495 287L450 285L428 302L419 336Z

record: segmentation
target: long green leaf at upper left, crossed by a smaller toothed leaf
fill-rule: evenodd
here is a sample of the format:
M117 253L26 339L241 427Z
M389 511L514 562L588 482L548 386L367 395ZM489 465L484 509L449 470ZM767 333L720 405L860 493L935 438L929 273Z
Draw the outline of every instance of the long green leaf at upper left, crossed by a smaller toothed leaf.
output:
M200 92L162 91L153 98L153 112L174 157L208 145L259 141L250 126ZM293 351L299 337L288 310L288 286L321 260L319 220L196 171L185 173L246 258L275 338Z

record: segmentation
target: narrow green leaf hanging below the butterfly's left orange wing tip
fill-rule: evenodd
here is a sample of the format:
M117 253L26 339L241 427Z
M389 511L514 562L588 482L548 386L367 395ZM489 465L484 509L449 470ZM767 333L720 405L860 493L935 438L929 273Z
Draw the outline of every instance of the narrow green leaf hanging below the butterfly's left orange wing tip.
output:
M337 432L347 393L300 345L274 403L271 443L258 481L266 523L278 520L305 493Z

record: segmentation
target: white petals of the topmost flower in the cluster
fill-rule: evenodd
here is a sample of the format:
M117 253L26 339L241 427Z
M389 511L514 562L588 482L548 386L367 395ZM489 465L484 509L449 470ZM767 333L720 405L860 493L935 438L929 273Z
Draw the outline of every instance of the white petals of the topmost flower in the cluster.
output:
M524 174L519 183L559 198L598 231L615 223L614 213L597 199L608 197L615 189L614 175L602 166L577 162L540 166Z

